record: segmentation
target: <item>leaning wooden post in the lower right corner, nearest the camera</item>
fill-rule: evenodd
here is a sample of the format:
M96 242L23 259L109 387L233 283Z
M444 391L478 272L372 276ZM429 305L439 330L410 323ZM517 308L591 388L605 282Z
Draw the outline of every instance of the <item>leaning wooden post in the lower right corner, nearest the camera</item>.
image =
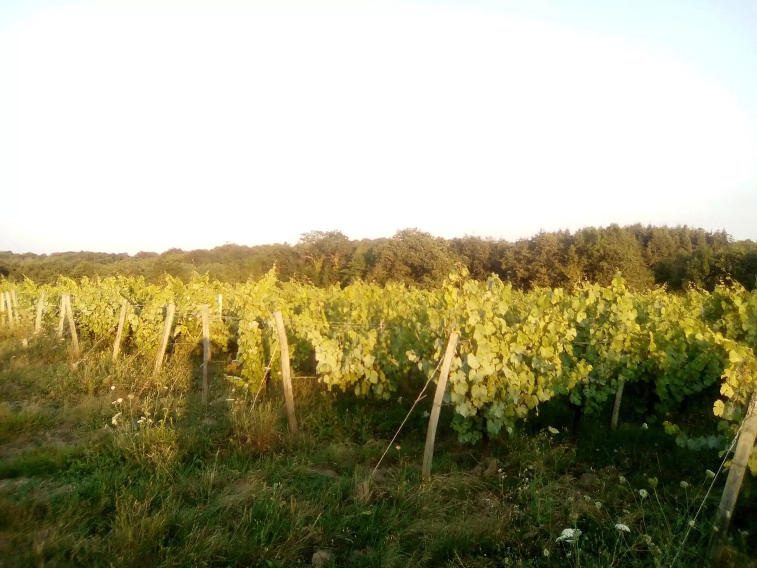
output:
M734 460L731 462L731 469L728 470L728 479L723 488L718 512L715 513L709 550L710 560L717 556L720 543L725 538L728 525L731 523L731 516L736 508L736 500L744 479L746 465L749 462L749 455L752 454L752 448L755 445L755 438L757 438L757 392L752 394L752 399L749 401L749 408L746 410L746 417L741 425L741 434L734 452Z

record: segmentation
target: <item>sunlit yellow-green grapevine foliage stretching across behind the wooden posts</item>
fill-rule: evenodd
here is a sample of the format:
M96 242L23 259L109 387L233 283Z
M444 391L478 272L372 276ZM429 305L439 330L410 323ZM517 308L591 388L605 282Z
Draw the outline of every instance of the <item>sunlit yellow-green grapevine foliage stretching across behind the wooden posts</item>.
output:
M329 389L382 399L403 383L431 377L456 331L448 396L453 425L468 441L512 429L556 395L594 412L620 382L654 392L661 411L719 383L713 411L737 420L757 377L757 294L738 285L712 293L634 293L618 276L606 287L519 292L497 276L470 279L463 269L432 290L367 282L323 289L280 282L272 270L235 285L199 275L188 283L167 276L164 286L125 276L61 277L42 286L28 279L0 282L0 291L11 289L26 314L45 292L46 326L55 323L61 295L70 294L79 332L93 341L115 335L126 299L124 345L140 351L157 348L170 303L176 305L175 341L198 342L199 306L209 304L217 308L211 340L238 350L252 385L275 351L273 312L280 310L295 371L315 360Z

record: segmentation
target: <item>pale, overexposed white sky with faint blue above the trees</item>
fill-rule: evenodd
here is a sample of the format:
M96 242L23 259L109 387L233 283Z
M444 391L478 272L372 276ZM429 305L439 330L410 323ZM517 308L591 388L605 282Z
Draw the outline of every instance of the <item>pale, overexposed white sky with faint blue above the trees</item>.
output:
M0 0L0 250L757 239L757 2Z

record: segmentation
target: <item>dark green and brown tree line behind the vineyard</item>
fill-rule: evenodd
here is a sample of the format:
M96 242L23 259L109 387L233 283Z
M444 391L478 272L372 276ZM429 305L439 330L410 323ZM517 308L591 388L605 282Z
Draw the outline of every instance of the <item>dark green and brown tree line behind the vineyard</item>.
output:
M351 240L340 231L311 231L295 245L227 244L210 250L172 248L162 254L0 252L0 276L13 280L28 276L40 283L54 282L61 274L71 278L123 274L162 282L166 273L188 279L194 272L222 282L245 282L274 264L280 279L301 279L316 286L344 286L365 279L431 287L456 264L464 264L476 279L497 273L525 290L570 288L581 281L607 286L618 270L632 289L655 285L712 289L721 280L733 279L751 290L757 279L757 243L734 241L725 231L637 224L540 232L516 242L477 236L442 239L418 229L401 229L389 239Z

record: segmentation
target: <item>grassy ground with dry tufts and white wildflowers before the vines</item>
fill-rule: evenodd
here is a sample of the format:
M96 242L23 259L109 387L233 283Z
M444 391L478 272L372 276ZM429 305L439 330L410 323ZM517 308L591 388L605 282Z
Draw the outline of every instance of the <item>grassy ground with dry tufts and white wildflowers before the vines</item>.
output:
M705 565L720 460L662 426L584 417L574 442L555 401L484 452L456 442L445 408L421 482L431 397L389 445L414 393L359 401L295 379L292 436L276 381L253 407L215 364L203 407L196 354L153 379L149 357L85 352L72 368L55 339L0 341L0 566ZM747 478L723 565L757 566ZM581 535L556 542L567 528Z

